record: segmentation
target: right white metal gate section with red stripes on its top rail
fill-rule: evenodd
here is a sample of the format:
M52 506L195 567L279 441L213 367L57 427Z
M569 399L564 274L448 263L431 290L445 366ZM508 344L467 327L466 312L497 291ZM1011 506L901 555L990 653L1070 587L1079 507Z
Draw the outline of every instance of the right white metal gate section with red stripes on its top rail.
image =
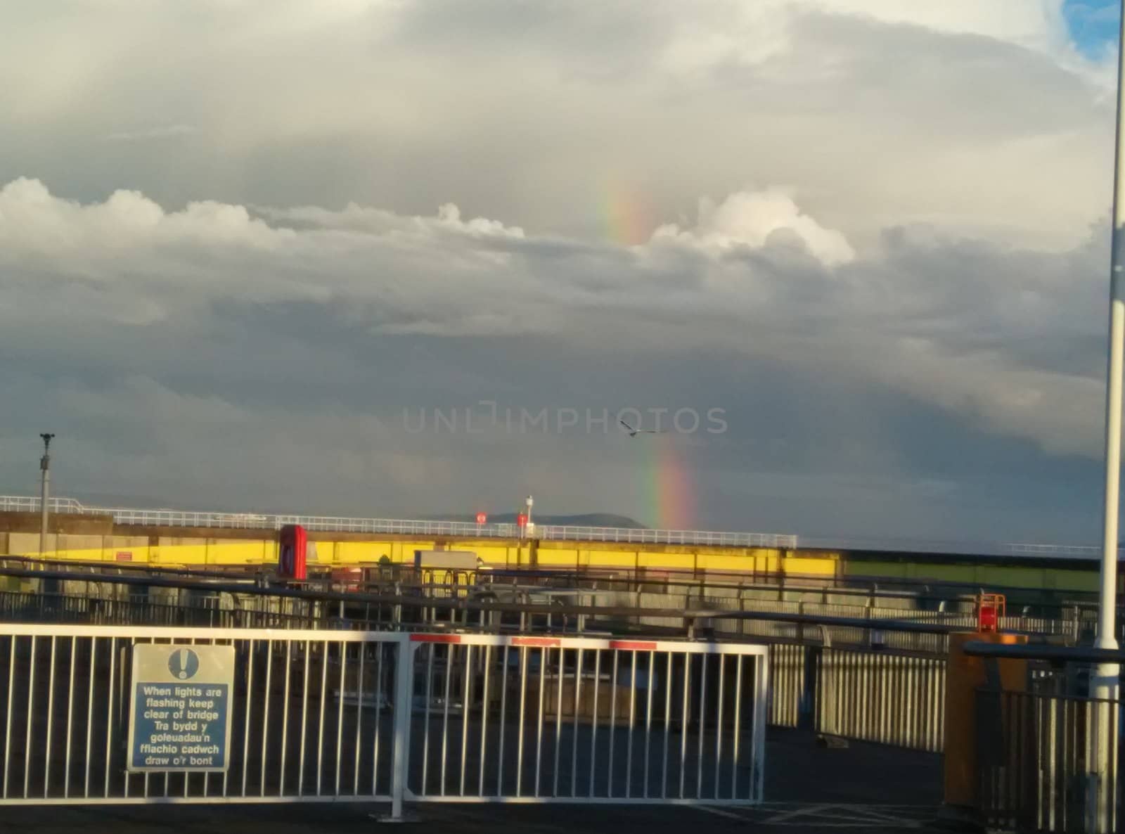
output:
M760 801L766 647L411 635L407 799Z

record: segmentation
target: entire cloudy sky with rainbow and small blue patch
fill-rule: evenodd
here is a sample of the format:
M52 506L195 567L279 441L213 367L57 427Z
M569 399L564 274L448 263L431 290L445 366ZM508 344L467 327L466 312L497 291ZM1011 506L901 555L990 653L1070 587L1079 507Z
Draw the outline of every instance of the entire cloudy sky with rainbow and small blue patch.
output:
M0 1L0 487L1097 540L1114 6Z

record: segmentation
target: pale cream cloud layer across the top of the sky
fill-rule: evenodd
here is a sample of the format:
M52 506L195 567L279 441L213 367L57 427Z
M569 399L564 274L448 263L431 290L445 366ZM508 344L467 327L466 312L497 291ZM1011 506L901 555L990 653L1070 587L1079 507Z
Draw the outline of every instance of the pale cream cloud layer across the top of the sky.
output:
M1062 250L1108 204L1112 96L1059 0L333 7L4 7L0 170L585 237L612 182L652 222L781 182L853 246L920 222Z

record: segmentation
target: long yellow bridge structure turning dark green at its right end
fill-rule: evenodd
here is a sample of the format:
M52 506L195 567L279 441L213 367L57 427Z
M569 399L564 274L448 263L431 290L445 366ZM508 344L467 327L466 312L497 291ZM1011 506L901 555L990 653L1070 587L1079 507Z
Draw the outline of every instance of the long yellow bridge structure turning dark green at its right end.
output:
M12 509L14 499L0 496L0 554L43 556L71 562L101 562L160 567L242 568L276 565L280 520L286 517L179 513L159 511L68 510L53 506L40 554L38 508L33 499ZM74 502L76 503L76 502ZM81 505L79 505L81 506ZM25 509L26 508L26 509ZM129 514L134 513L134 514ZM190 518L189 518L190 517ZM297 520L299 517L291 517ZM346 528L346 520L339 520ZM278 522L278 523L274 523ZM420 523L420 522L411 522ZM452 522L451 522L452 523ZM324 521L321 527L332 526ZM435 524L440 527L440 524ZM1092 592L1098 586L1097 555L1092 548L1074 553L1037 555L936 553L910 549L806 547L795 537L760 537L757 545L700 544L699 541L587 540L521 538L514 528L475 535L471 524L452 526L453 532L366 532L346 529L309 529L309 568L332 571L380 563L411 563L415 550L468 550L494 568L558 571L621 571L639 575L690 573L738 574L753 581L786 579L922 581L982 588L1025 588L1051 592ZM604 530L604 528L602 528ZM538 531L537 531L538 532ZM631 531L639 538L647 532ZM603 533L596 533L604 538ZM736 536L716 533L714 536ZM739 533L738 536L750 536ZM665 537L673 538L673 537ZM684 536L684 538L690 538Z

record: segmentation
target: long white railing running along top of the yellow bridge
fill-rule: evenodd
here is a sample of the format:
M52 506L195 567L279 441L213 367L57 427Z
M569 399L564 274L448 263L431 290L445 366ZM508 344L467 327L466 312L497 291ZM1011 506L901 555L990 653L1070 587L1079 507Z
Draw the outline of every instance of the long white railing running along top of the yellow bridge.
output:
M512 523L477 524L471 521L410 519L360 519L334 515L277 515L184 510L135 510L119 506L87 506L74 499L51 499L51 512L110 515L118 524L144 527L208 527L276 530L300 524L306 530L332 532L399 533L412 536L457 536L514 538L520 529ZM38 512L39 499L0 495L0 512ZM576 527L537 524L536 538L624 544L713 545L721 547L796 547L796 536L762 532L713 532L709 530L649 530L627 527Z

